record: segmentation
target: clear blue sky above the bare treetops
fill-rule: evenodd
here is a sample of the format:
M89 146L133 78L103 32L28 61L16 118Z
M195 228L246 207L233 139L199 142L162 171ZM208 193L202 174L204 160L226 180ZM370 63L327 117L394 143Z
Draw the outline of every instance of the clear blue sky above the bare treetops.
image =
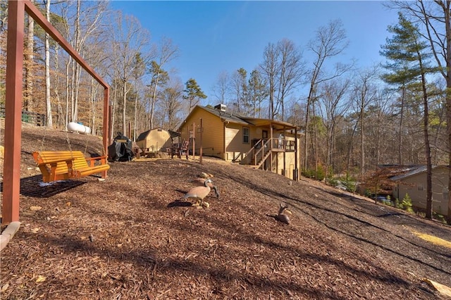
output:
M194 78L209 96L204 104L213 105L218 75L239 68L252 72L270 42L287 38L305 49L319 27L340 19L350 41L340 60L355 58L366 68L383 61L379 51L387 27L397 23L397 12L383 1L111 1L111 6L135 15L152 41L171 38L180 48L171 67L182 82ZM309 52L303 53L311 66Z

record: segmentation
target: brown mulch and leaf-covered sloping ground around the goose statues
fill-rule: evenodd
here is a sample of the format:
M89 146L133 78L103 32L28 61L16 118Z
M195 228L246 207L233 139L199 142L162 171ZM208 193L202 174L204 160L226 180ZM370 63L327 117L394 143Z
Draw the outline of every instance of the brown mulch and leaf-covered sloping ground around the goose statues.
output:
M451 241L449 226L214 158L40 185L32 151L67 150L66 137L99 153L96 137L23 127L22 225L1 251L1 299L446 299L423 279L451 286L451 249L413 232ZM221 198L178 201L202 172ZM280 202L290 225L274 218Z

